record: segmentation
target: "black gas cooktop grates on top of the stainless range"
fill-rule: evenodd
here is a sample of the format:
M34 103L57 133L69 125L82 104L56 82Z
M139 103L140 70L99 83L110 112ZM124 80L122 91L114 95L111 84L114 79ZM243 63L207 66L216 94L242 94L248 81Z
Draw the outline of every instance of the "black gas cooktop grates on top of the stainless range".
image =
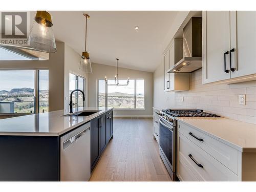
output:
M203 112L203 110L199 109L166 109L162 110L167 115L173 117L220 117L215 114Z

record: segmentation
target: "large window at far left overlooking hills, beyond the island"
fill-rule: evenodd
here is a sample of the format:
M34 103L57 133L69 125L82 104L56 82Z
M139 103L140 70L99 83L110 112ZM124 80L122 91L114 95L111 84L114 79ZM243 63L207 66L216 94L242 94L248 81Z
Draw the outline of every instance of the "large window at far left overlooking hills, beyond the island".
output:
M48 72L48 70L1 70L0 113L48 112ZM38 90L38 94L35 90Z

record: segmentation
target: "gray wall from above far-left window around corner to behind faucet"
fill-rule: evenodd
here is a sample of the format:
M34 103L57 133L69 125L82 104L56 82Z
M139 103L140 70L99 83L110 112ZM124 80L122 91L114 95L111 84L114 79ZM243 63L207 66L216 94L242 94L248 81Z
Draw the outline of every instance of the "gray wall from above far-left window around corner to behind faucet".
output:
M49 60L0 61L0 69L49 69L49 111L69 109L69 73L80 75L86 78L88 106L89 75L79 70L80 55L64 42L56 46Z

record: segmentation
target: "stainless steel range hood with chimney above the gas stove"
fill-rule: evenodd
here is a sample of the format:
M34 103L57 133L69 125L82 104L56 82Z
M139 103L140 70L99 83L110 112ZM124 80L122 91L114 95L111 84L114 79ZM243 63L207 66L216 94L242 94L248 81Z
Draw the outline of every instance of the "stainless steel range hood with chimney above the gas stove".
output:
M202 18L191 17L183 28L183 58L167 73L190 73L202 68Z

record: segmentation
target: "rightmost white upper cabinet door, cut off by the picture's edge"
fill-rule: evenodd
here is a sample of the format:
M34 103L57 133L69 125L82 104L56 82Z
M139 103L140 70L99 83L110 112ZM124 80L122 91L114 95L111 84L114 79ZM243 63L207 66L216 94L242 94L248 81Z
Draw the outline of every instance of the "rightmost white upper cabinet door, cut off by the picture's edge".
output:
M231 72L231 78L256 74L256 11L237 11L234 16L237 16L237 65L232 63L236 71Z

